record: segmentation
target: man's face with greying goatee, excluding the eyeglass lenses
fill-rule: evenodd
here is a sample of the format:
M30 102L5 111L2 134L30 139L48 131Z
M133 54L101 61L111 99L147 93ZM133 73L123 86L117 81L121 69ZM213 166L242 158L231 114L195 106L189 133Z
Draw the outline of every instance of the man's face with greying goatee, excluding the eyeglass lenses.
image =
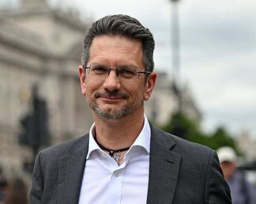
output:
M145 71L142 43L126 37L95 37L90 48L91 64L107 65L111 68L133 67ZM96 78L84 73L79 67L82 93L89 106L98 116L108 120L118 120L143 109L143 100L148 100L153 90L145 74L135 79L121 79L116 70L111 70L106 78ZM156 77L155 77L156 78ZM155 79L154 79L155 85Z

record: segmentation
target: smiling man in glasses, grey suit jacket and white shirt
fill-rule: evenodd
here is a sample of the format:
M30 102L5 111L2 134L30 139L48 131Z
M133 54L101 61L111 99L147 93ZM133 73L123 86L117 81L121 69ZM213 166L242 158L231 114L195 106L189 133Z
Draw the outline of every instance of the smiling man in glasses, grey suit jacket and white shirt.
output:
M38 154L31 203L231 203L216 152L144 115L157 77L154 47L151 32L126 15L89 27L79 75L95 123Z

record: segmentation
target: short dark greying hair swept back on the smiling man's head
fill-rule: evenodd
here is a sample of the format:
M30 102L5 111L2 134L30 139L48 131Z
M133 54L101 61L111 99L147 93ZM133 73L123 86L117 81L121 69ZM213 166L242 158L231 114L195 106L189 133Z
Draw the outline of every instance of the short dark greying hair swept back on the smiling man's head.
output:
M94 37L102 35L111 37L124 36L141 41L145 71L153 71L153 52L155 48L153 34L140 24L137 19L123 14L103 17L89 26L84 35L82 66L87 65L90 57L89 50Z

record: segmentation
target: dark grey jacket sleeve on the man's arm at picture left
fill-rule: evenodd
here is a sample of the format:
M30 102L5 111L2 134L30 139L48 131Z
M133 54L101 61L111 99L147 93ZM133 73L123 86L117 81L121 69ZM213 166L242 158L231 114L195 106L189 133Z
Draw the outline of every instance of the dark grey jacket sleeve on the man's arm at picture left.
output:
M37 155L34 163L34 170L32 173L32 185L30 190L30 203L40 204L42 200L42 194L44 190L44 183L42 178L41 166L40 166L41 153Z

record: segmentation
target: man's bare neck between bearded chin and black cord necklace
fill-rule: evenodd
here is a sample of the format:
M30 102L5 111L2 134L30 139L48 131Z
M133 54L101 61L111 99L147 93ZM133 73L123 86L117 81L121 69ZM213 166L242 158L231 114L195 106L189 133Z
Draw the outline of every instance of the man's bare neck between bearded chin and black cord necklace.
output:
M144 113L127 115L120 120L106 120L94 113L96 137L108 149L123 149L131 146L144 125Z

